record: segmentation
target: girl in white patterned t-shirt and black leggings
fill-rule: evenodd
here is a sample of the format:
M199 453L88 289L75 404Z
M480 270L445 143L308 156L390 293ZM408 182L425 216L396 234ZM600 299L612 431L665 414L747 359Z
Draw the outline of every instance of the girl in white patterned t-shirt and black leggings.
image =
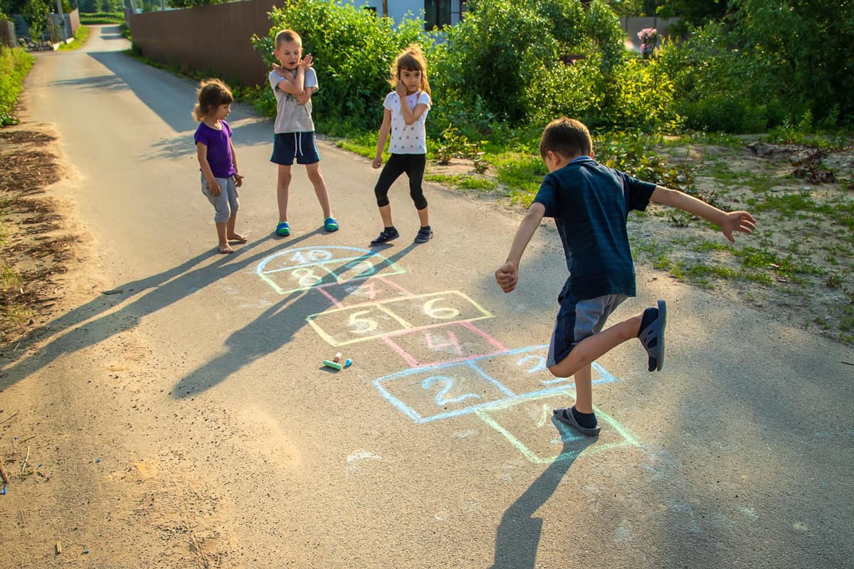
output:
M415 203L418 220L421 222L415 242L426 243L433 237L427 200L421 189L424 166L427 165L427 133L424 121L427 119L427 111L430 110L430 84L427 82L427 62L418 45L409 46L397 56L395 65L391 67L389 83L395 90L391 91L383 102L385 114L383 125L379 127L377 157L373 160L374 168L383 165L383 148L390 135L391 157L374 187L379 214L383 218L383 231L377 239L371 241L371 245L380 245L400 236L395 224L391 222L389 188L404 172L409 177L409 195Z

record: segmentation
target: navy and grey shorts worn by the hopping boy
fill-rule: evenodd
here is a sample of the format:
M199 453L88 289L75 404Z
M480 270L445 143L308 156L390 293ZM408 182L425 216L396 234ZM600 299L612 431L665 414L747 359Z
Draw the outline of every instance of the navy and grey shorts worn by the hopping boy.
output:
M551 368L562 362L578 342L599 334L611 312L628 298L625 294L605 294L595 299L561 299L552 341L548 345L546 366Z

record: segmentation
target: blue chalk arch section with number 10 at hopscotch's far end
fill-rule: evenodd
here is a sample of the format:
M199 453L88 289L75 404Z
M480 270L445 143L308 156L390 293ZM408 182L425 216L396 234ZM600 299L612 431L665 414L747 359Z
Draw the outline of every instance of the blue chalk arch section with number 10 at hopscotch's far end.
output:
M405 272L370 249L337 245L285 249L264 258L255 269L261 280L279 294Z

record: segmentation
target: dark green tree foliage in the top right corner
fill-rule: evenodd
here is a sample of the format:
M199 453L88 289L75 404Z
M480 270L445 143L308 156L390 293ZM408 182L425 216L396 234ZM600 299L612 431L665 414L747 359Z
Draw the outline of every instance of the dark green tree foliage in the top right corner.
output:
M688 124L755 132L854 122L851 0L734 0L723 23L663 49Z

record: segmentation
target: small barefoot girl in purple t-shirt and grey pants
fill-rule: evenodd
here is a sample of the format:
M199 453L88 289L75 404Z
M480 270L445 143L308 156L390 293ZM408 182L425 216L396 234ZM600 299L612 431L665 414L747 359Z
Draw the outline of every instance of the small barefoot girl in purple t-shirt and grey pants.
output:
M193 118L199 121L195 139L196 155L202 170L202 194L213 205L219 253L234 253L229 241L246 242L246 237L234 230L240 207L237 188L243 185L243 176L237 173L231 126L225 122L225 117L231 113L234 97L219 79L202 81L197 95Z

